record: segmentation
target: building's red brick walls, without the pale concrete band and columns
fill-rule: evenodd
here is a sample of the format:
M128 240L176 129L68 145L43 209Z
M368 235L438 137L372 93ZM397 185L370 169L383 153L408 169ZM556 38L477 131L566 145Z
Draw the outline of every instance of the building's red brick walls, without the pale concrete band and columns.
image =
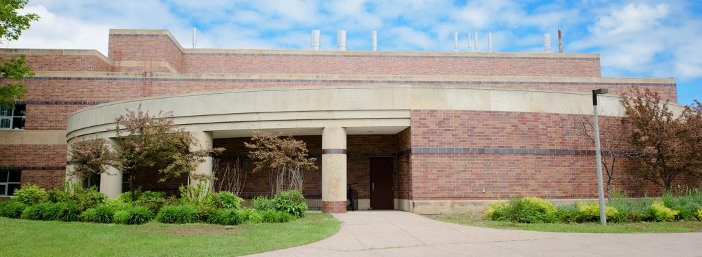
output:
M117 100L242 88L421 86L621 94L651 88L677 102L674 81L600 78L599 55L510 53L410 53L370 51L234 51L185 49L162 30L110 31L108 56L97 51L1 49L0 58L25 55L37 73L25 80L25 130L67 129L67 117ZM548 112L409 110L411 126L390 135L347 136L347 183L369 199L370 159L392 157L397 200L482 200L538 196L596 197L594 147L576 121L583 115ZM603 117L618 121L618 117ZM2 133L0 131L0 133ZM322 195L322 136L307 143L319 170L305 173L305 192ZM216 138L227 150L220 166L251 163L244 142ZM0 145L0 169L22 169L22 183L59 187L66 145ZM616 188L657 195L660 187L635 178L639 164L616 164ZM174 192L185 178L156 183L155 171L137 175L137 186ZM683 185L699 185L681 177ZM244 192L270 192L267 174L248 174ZM341 211L345 202L324 202Z

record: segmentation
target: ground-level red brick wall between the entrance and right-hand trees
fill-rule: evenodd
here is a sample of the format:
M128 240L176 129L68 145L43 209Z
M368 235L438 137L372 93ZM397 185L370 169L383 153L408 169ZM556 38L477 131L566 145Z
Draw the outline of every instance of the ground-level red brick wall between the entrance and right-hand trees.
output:
M438 151L412 154L413 199L597 197L594 145L578 135L575 118L527 112L414 110L412 147ZM484 152L449 153L455 148ZM489 153L510 149L551 152ZM631 160L619 159L615 188L631 196L660 193L660 187L636 178L639 168Z

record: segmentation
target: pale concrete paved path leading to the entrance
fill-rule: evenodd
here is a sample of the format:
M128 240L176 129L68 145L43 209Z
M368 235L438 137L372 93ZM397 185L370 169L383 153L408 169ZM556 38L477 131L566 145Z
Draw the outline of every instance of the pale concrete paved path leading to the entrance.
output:
M352 211L336 235L257 256L702 256L702 233L584 234L496 230L403 211Z

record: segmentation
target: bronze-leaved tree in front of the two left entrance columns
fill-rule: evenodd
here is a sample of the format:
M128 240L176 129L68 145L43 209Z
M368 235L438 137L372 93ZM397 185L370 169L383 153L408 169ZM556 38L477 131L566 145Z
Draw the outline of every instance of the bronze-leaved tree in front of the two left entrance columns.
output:
M116 133L124 171L128 171L129 185L134 194L134 178L141 169L157 169L162 175L159 182L168 178L187 175L196 180L211 179L201 174L192 174L197 164L204 162L210 152L222 152L224 148L203 149L185 129L178 128L172 112L159 112L152 116L141 110L127 110L117 118ZM199 149L191 151L190 147ZM190 182L190 180L189 180Z

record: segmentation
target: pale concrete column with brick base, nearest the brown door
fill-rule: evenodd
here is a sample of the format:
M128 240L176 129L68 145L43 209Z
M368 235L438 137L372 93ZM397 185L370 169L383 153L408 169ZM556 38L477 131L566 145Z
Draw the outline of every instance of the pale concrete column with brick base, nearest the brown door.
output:
M322 131L322 212L346 212L346 129Z

